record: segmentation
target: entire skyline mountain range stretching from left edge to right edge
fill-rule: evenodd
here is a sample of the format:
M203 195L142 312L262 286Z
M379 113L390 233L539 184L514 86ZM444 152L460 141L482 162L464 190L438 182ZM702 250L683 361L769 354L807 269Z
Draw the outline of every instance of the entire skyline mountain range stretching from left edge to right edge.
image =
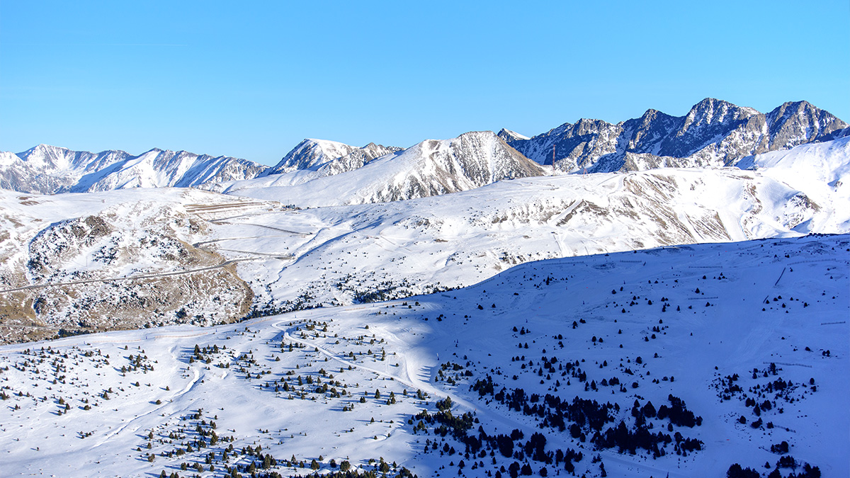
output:
M683 117L650 109L643 116L625 122L580 119L533 137L504 128L498 134L486 133L510 151L496 147L489 136L485 140L483 137L472 140L484 132L462 134L445 140L464 139L440 153L447 156L432 161L428 172L395 162L416 162L428 155L433 160L434 151L422 146L433 140L405 150L375 143L357 147L325 139L304 139L273 167L231 156L213 157L188 151L153 149L133 156L126 151L92 153L37 145L19 154L0 152L0 189L39 194L167 186L211 191L255 190L264 186L303 185L315 179L348 174L381 160L381 171L371 168L370 174L334 179L331 189L347 191L346 202L383 202L467 191L494 180L529 175L734 166L757 154L850 136L850 128L828 111L806 101L788 102L761 113L706 98ZM501 152L496 156L483 155L482 140ZM464 148L471 149L463 151ZM449 161L449 156L454 159ZM531 160L531 165L519 156ZM513 159L495 166L473 165L475 161L491 161L496 157ZM452 161L454 165L450 165ZM508 163L511 166L507 167ZM537 165L552 168L539 169ZM487 174L492 173L492 177L485 179L482 168L488 170ZM384 191L377 191L380 185L371 184L378 176L386 176L382 179L388 181L382 186ZM254 182L239 184L246 180ZM353 183L342 184L348 180ZM314 185L324 188L331 183Z

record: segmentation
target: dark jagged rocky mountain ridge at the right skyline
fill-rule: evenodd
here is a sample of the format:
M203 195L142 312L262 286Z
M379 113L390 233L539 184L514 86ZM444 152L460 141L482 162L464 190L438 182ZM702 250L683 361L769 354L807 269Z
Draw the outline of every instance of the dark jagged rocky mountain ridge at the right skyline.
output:
M500 137L530 159L561 172L612 173L731 166L746 156L848 134L847 123L807 101L788 102L764 114L706 98L683 117L648 110L616 124L580 119L530 139L509 130L502 130Z

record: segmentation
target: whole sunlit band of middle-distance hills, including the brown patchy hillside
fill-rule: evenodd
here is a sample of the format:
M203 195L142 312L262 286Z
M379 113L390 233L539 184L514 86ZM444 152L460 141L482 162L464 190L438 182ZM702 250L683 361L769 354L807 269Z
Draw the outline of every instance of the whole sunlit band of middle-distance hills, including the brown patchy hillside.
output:
M407 201L346 205L336 191L332 207L316 207L322 196L309 196L309 183L282 203L297 208L263 199L287 189L276 186L240 191L260 196L250 199L177 188L4 191L0 318L21 327L3 340L406 297L537 259L850 233L850 138L749 162L531 176Z

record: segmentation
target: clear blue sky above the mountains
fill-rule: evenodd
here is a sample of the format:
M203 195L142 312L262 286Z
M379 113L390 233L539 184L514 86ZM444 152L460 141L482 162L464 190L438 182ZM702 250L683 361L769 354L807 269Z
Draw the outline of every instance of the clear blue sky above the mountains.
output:
M706 97L850 121L850 2L0 1L0 151L273 164Z

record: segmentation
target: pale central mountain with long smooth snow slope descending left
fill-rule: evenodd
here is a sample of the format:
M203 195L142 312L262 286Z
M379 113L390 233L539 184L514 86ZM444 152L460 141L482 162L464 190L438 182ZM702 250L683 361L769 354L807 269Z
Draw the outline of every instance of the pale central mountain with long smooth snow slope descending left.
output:
M223 192L284 204L327 206L437 196L542 174L543 169L496 134L482 131L443 141L429 139L343 174L327 175L321 168L315 173L298 171L238 181L226 185Z

